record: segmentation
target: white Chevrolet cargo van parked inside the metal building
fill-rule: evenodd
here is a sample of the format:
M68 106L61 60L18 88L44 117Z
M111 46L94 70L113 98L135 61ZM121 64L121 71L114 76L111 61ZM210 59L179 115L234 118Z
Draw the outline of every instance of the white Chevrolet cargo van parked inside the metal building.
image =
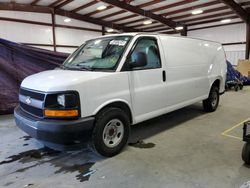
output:
M48 147L92 140L118 154L130 126L203 101L215 111L224 92L221 44L162 34L125 33L86 41L60 69L25 78L16 124Z

